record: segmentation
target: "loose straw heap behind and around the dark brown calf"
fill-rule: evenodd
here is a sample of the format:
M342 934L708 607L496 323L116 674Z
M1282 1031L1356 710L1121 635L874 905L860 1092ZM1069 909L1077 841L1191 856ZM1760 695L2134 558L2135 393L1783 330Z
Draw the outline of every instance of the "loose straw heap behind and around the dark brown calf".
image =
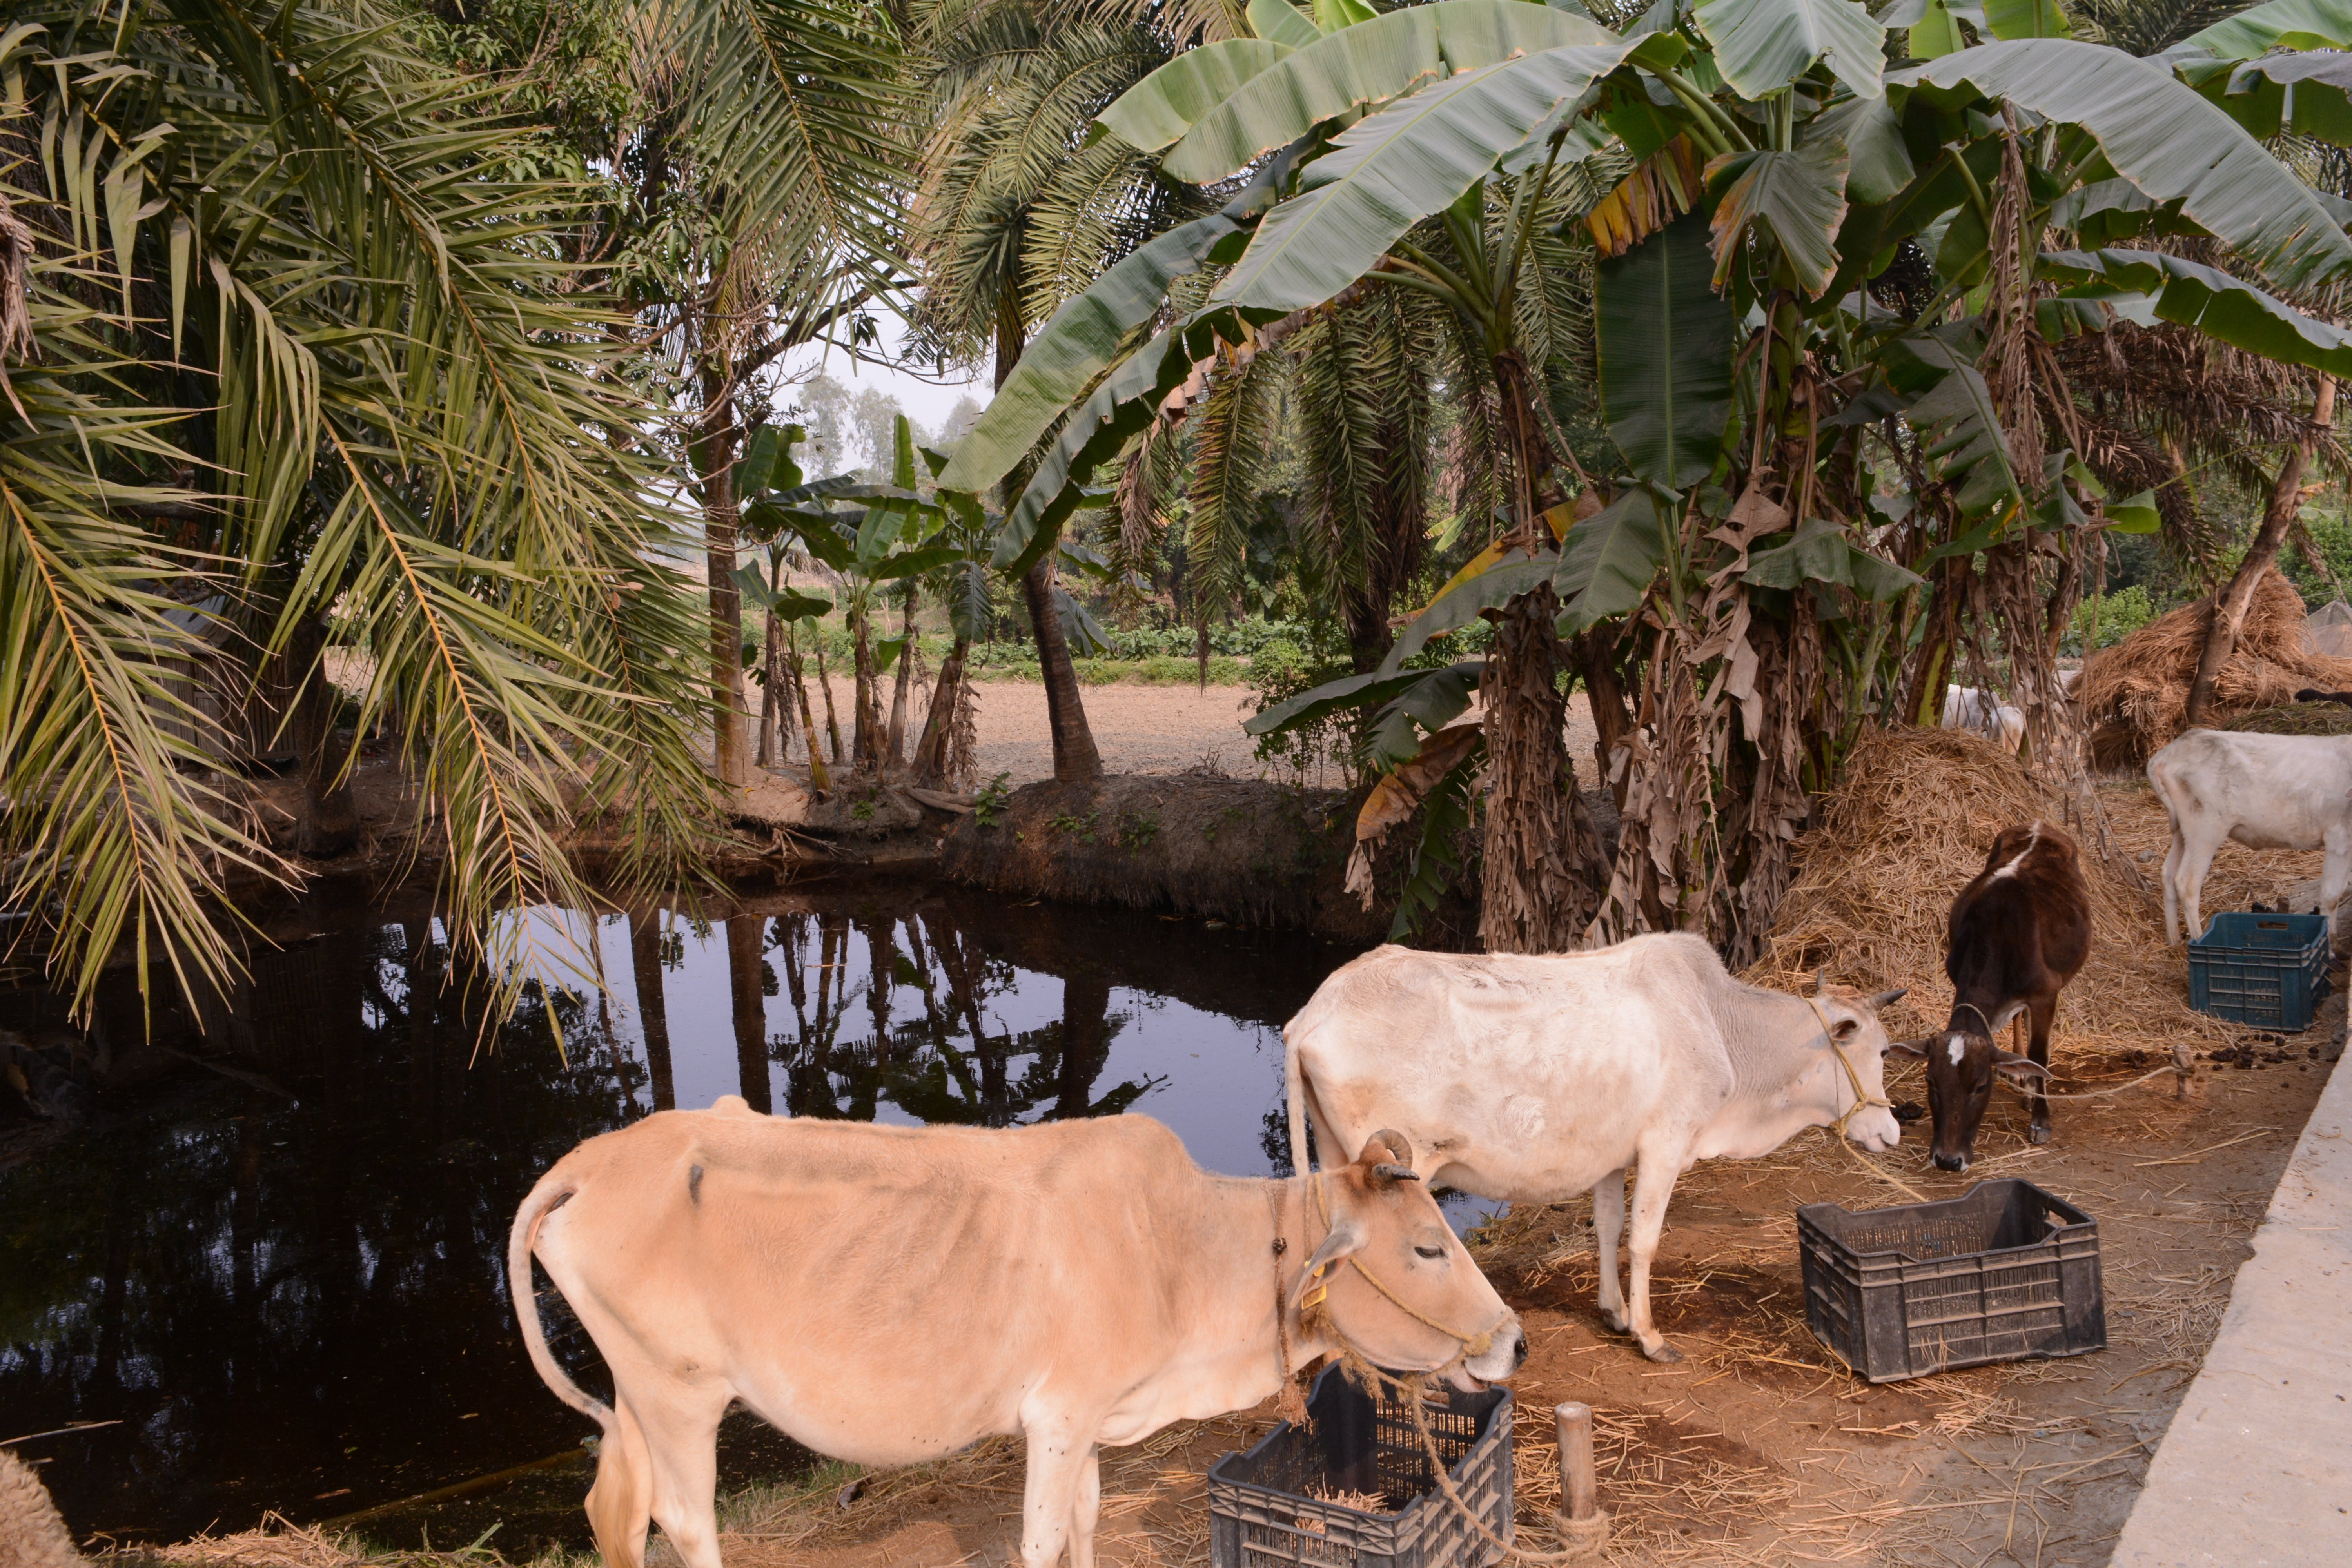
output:
M2100 806L2154 884L2171 832L2154 792L2143 783L2107 785ZM1828 969L1832 980L1863 990L1907 985L1910 997L1889 1009L1889 1034L1943 1027L1952 1006L1943 973L1952 896L1985 867L2002 827L2034 818L2058 823L2058 802L1990 741L1952 729L1865 733L1818 825L1797 842L1797 882L1769 957L1748 978L1799 990ZM2161 905L2143 900L2089 844L2082 870L2091 886L2091 959L2058 999L2058 1074L2074 1077L2086 1051L2129 1063L2133 1053L2201 1053L2234 1041L2239 1025L2190 1011L2187 957L2164 945ZM2211 914L2253 898L2272 903L2317 872L2319 853L2232 844L2206 877L2204 907Z

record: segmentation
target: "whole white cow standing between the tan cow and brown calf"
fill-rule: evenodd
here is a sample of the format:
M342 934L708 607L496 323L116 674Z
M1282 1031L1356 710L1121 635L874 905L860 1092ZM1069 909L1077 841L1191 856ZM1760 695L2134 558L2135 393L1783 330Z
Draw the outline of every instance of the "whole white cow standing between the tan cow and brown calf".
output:
M1877 1013L1900 994L1762 990L1682 933L1545 957L1374 947L1282 1030L1291 1159L1305 1168L1312 1114L1327 1159L1392 1126L1432 1187L1531 1204L1592 1192L1602 1314L1651 1361L1679 1361L1649 1312L1675 1178L1839 1121L1865 1150L1896 1147ZM1628 1314L1616 1248L1635 1164Z

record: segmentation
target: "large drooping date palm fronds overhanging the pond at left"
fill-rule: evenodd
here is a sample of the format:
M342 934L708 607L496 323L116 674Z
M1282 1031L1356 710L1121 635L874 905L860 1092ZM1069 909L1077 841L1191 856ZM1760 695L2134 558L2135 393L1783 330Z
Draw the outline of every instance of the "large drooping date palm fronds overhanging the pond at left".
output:
M644 877L701 844L706 618L661 564L628 313L564 266L586 181L400 19L0 24L0 858L16 940L82 1004L122 945L141 983L221 983L228 879L296 877L216 771L202 689L230 663L235 705L292 649L322 698L329 614L372 670L360 729L421 785L452 931L515 947L496 910L583 900L586 813Z

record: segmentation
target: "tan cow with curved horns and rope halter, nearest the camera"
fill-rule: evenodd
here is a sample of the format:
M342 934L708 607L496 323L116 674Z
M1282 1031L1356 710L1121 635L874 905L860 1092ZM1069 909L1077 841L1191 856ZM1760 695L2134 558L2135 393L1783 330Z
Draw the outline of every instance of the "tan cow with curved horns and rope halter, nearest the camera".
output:
M515 1215L508 1284L532 1366L604 1427L588 1519L609 1568L642 1566L647 1519L687 1568L720 1568L736 1399L858 1465L1021 1432L1023 1563L1068 1542L1091 1568L1103 1443L1244 1410L1341 1335L1463 1387L1519 1366L1517 1319L1411 1159L1374 1133L1322 1178L1242 1180L1145 1117L898 1128L727 1095L560 1159ZM604 1352L612 1406L548 1354L534 1253ZM1301 1321L1310 1274L1327 1300Z

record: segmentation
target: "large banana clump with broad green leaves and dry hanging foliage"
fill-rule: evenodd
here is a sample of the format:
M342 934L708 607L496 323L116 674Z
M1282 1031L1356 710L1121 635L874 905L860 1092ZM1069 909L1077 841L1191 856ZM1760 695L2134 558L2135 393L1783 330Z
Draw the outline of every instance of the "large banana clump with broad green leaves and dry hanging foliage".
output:
M2338 136L2336 68L2265 52L2338 40L2340 9L2277 0L2140 61L2067 38L2053 2L1980 26L1962 9L1962 31L1922 0L1884 19L1856 0L1703 0L1621 38L1442 0L1310 40L1263 0L1256 47L1181 54L1101 120L1171 176L1249 183L1073 299L943 480L1002 477L1061 418L1000 545L1042 555L1136 433L1348 292L1491 308L1508 266L1468 242L1468 214L1581 230L1618 473L1550 473L1564 454L1526 400L1484 569L1381 670L1261 724L1383 703L1374 729L1402 766L1468 703L1458 675L1411 658L1477 614L1524 628L1536 607L1536 642L1578 639L1623 804L1578 938L1703 929L1752 957L1842 741L1938 708L1962 656L2009 672L2037 764L2079 778L2051 665L2103 484L2053 343L2178 322L2333 374L2345 334L2281 294L2343 277L2352 242L2258 134L2274 115ZM1604 174L1602 195L1562 214L1571 165ZM2124 244L2159 235L2206 254ZM1926 270L1919 303L1891 287L1905 268ZM1531 632L1498 637L1498 658ZM1566 945L1543 905L1578 877L1573 809L1552 780L1512 783L1494 745L1510 733L1494 715L1545 691L1489 691L1489 945Z

